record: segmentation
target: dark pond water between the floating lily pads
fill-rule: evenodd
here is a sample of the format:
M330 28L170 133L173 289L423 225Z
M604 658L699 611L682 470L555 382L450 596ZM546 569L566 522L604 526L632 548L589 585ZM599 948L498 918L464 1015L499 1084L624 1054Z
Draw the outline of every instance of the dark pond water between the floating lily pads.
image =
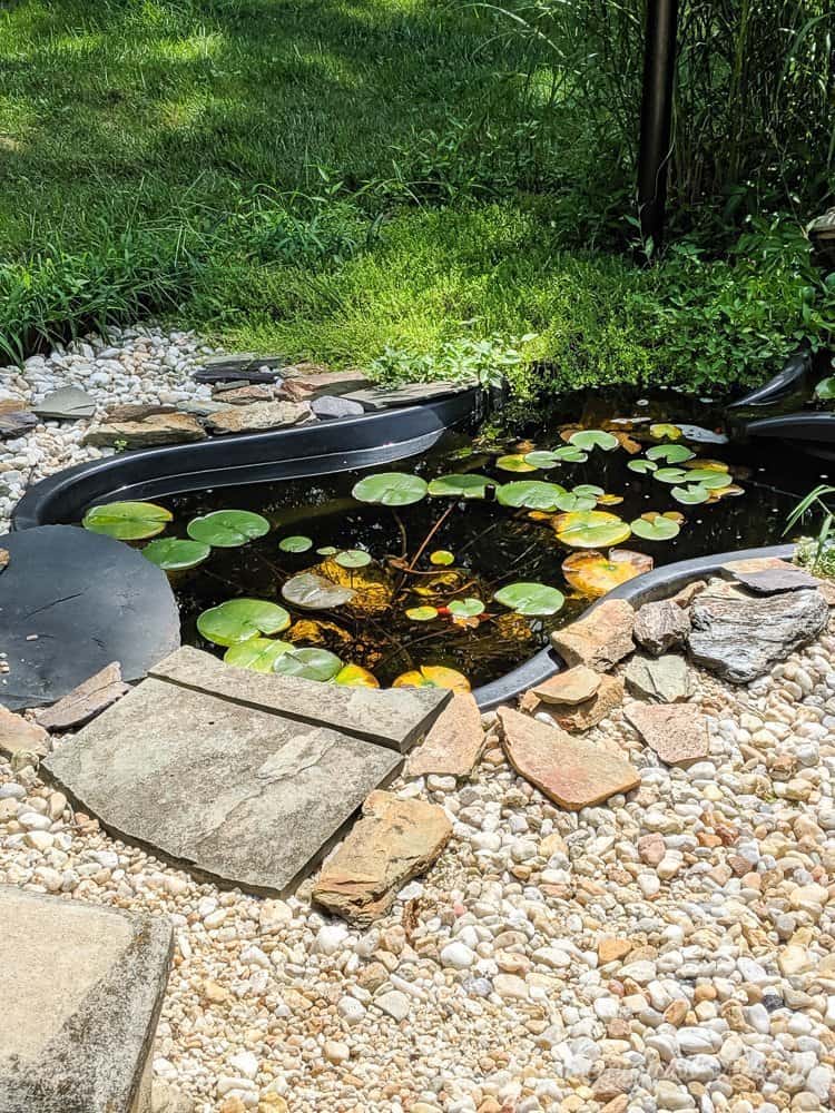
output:
M674 427L659 429L659 424ZM602 437L600 445L584 449L574 441L571 451L569 439L578 429L609 433L617 446ZM678 447L665 460L657 454L660 445ZM576 456L573 461L546 457L547 469L507 470L519 467L519 461L525 466L524 456L531 452L567 446L569 452L561 454ZM694 457L678 460L686 454L681 446ZM655 460L648 460L647 450L650 457L655 453ZM502 459L508 455L515 463ZM543 462L537 456L533 461ZM630 466L635 461L646 462L638 465L644 472ZM670 467L679 470L678 482ZM674 492L684 491L688 498L695 487L701 491L700 482L681 480L680 471L701 475L710 501L677 501ZM416 475L425 482L450 473L475 474L490 485L483 491L485 498L425 496L391 509L352 495L360 480L376 472ZM661 479L659 472L665 472ZM713 480L711 472L724 477ZM367 670L384 687L404 673L429 667L426 677L432 676L432 668L441 667L461 673L475 688L546 644L552 629L576 618L595 598L595 590L613 582L612 575L626 574L625 568L645 570L650 560L660 565L778 543L786 514L819 477L819 464L788 449L721 443L720 410L710 403L694 403L669 392L640 397L607 390L563 396L544 410L508 407L480 430L449 432L423 456L385 467L159 500L173 513L160 536L185 539L195 516L218 510L252 511L269 523L263 536L235 548L213 546L203 563L173 574L186 643L220 656L227 652L203 637L197 621L206 610L243 597L277 603L289 612L289 628L265 630L266 636L277 636L295 650L325 649L343 663ZM581 513L591 506L595 513L615 515L616 521L595 519L589 532L589 520L581 518L578 530L576 521L560 518L566 508L571 509L571 499L566 501L566 496L562 508L541 511L500 503L500 489L531 480L559 484L569 495L573 491L574 499L580 486ZM584 491L584 484L598 491ZM728 486L731 494L727 494ZM513 489L513 499L528 498L519 491ZM543 490L534 491L541 501ZM630 523L654 513L670 515L665 522L677 528L675 536L629 535ZM655 524L664 534L675 532L665 522L659 525L656 519ZM572 524L574 529L566 534ZM641 526L637 530L646 532ZM283 551L281 543L288 538L301 539L291 548L306 546L305 551ZM616 553L612 562L611 549L640 555L627 555L621 563ZM334 558L344 551L360 551L358 558L347 559L357 567L336 562ZM362 564L365 554L371 563ZM569 582L563 562L572 554L581 567ZM288 602L283 595L285 584L305 572L353 592L351 601L323 610ZM578 574L584 579L578 580ZM589 575L597 581L591 591L586 582ZM497 592L518 582L557 588L564 603L554 613L525 614L519 612L518 600L513 607L495 600ZM547 598L552 601L554 597ZM536 612L549 607L534 598L528 609ZM269 666L262 659L256 667ZM441 673L434 679L453 683L455 678Z

